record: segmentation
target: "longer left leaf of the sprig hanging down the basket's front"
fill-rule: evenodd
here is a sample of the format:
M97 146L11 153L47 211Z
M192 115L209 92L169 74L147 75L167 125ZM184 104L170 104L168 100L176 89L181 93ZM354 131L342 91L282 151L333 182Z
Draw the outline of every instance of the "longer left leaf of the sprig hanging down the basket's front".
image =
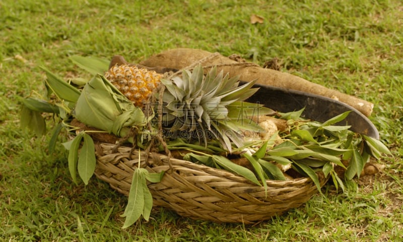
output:
M126 217L122 228L127 228L135 223L144 212L144 172L136 169L133 172L127 205L124 209L123 217Z

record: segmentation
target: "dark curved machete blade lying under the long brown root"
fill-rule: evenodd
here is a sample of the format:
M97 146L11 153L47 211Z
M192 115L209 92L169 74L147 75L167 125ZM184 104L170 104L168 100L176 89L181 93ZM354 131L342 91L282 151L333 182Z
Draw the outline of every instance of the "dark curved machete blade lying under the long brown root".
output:
M241 82L240 84L245 84ZM379 139L379 133L374 124L357 109L331 98L305 93L301 91L255 84L259 88L246 101L259 103L277 112L287 113L305 108L302 116L318 122L351 111L346 119L335 125L350 125L350 130Z

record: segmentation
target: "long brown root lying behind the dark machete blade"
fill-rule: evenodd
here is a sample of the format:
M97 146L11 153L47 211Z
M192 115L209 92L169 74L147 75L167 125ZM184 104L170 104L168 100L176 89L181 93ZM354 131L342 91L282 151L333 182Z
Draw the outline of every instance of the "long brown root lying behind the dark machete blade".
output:
M140 64L150 67L164 66L171 69L182 69L195 63L201 63L204 66L217 65L218 71L228 72L230 76L240 75L240 79L247 82L257 79L259 84L332 98L354 107L367 117L372 113L373 104L370 102L311 83L296 75L261 68L253 63L239 63L218 53L213 54L204 50L187 48L167 50L151 56ZM205 68L205 71L208 71L208 68Z

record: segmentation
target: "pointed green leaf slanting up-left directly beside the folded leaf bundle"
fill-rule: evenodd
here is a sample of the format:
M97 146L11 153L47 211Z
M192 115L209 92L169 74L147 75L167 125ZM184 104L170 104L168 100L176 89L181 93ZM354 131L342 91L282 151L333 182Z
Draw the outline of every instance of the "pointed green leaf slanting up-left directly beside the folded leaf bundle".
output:
M50 89L60 100L72 103L77 102L80 96L80 91L72 85L64 82L64 80L50 72L45 67L41 66L41 68L46 72L47 78L45 83L48 89Z

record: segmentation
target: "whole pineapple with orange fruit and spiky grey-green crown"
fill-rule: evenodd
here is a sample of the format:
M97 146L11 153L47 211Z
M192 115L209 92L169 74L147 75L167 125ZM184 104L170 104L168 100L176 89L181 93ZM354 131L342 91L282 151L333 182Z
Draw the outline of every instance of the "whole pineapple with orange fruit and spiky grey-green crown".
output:
M203 139L205 144L216 139L231 151L232 142L238 147L243 145L245 130L262 131L249 116L266 110L261 105L242 102L257 91L251 89L255 82L238 87L238 77L217 73L216 67L204 75L199 65L193 72L183 70L182 77L165 79L153 70L124 63L113 65L105 77L139 108L160 84L164 85L162 120L168 139Z

